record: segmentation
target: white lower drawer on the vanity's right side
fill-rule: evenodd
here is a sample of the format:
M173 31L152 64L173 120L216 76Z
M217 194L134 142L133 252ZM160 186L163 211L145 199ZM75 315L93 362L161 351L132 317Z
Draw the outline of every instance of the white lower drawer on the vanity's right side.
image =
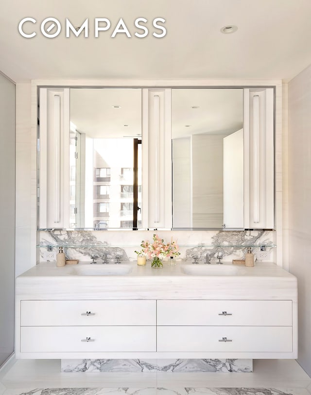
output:
M223 338L227 341L220 342ZM292 349L291 326L157 327L158 352L292 352Z

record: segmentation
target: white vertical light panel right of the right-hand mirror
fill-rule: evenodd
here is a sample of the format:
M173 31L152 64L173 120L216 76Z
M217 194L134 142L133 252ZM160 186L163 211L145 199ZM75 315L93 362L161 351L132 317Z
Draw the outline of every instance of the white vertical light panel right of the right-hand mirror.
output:
M244 88L244 228L274 229L274 90Z

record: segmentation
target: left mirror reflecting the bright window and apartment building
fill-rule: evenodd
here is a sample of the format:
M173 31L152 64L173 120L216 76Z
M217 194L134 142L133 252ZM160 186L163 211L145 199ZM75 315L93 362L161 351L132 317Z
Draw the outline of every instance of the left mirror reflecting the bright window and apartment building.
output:
M141 226L140 142L141 89L70 89L71 228Z

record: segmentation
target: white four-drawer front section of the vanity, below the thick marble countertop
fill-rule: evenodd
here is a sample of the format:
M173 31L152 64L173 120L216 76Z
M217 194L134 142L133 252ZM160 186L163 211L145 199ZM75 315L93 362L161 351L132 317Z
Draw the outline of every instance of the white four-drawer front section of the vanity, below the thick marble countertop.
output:
M291 300L21 300L18 358L289 358Z

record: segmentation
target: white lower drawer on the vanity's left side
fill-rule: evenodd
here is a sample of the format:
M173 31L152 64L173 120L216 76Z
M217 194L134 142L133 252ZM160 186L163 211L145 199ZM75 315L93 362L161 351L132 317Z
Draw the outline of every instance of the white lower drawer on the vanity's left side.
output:
M155 339L155 326L22 326L20 352L156 351Z

